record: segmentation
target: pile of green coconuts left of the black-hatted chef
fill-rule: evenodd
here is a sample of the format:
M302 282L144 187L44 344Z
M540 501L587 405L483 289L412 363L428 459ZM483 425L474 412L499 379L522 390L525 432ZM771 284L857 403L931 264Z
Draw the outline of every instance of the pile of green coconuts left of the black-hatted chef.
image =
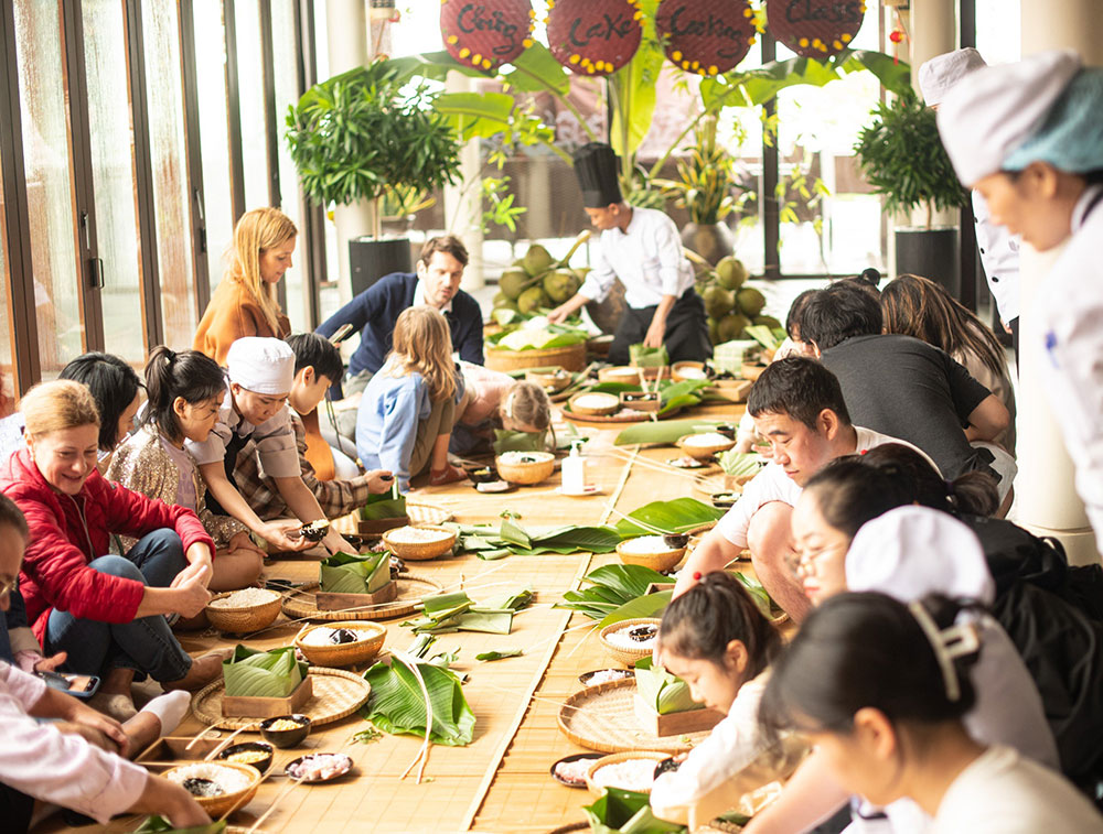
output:
M510 324L517 314L527 317L571 299L582 285L587 270L571 269L570 257L588 237L588 232L580 235L560 261L539 243L528 247L525 257L514 261L497 281L499 292L491 313L494 321Z

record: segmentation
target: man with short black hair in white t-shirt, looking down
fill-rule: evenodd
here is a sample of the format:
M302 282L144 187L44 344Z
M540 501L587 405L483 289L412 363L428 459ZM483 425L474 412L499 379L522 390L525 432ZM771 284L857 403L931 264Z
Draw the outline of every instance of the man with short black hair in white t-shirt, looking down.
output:
M838 380L814 359L794 356L770 365L751 388L747 411L758 434L770 442L773 461L743 487L736 505L694 550L678 573L674 595L749 548L759 581L800 622L812 605L794 573L790 519L808 478L836 457L885 443L900 443L931 466L934 462L910 443L852 425Z

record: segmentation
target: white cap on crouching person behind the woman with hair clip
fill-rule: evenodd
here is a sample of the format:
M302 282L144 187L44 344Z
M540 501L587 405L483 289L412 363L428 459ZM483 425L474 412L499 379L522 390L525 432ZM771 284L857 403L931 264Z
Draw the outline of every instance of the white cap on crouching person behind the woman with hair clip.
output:
M902 603L943 594L989 604L996 596L976 534L949 513L914 506L863 524L846 554L846 587Z

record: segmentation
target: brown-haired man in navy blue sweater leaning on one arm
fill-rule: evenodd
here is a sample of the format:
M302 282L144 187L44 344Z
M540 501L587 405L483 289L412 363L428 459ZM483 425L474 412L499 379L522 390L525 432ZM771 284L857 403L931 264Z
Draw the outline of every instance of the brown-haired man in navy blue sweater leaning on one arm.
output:
M360 393L383 367L390 350L398 314L406 307L428 305L445 314L452 331L452 348L460 358L483 364L482 311L479 302L460 289L468 250L451 235L430 238L421 248L417 273L392 272L330 316L319 328L332 336L345 324L360 333L360 347L349 360L344 393Z

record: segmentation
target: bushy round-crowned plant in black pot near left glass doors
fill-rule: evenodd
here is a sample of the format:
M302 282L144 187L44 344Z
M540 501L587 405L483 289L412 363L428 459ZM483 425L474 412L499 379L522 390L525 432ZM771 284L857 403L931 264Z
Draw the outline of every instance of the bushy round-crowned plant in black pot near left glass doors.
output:
M289 108L287 143L308 199L324 208L365 201L373 207L371 240L350 241L350 252L354 242L362 250L360 268L350 269L354 294L411 268L409 240L383 237L384 198L408 212L413 195L458 175L459 143L433 109L436 97L424 80L410 85L379 61L314 85Z

